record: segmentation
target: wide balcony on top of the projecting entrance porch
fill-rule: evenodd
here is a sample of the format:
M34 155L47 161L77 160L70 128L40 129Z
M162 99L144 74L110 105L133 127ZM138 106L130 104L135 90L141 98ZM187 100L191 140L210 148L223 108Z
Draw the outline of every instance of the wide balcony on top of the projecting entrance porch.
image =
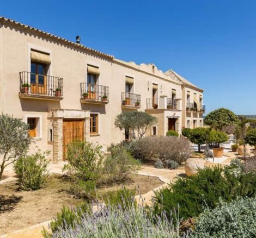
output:
M167 97L147 98L147 109L178 110L178 100Z

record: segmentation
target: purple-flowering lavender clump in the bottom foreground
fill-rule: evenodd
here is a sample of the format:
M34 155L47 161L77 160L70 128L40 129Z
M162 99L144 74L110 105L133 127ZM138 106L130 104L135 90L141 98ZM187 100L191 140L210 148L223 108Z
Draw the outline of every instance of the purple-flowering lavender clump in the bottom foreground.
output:
M67 229L64 226L53 233L52 237L179 237L179 224L175 227L164 214L161 218L155 218L152 212L146 212L141 206L131 205L128 209L108 206L93 214L84 214L74 228Z

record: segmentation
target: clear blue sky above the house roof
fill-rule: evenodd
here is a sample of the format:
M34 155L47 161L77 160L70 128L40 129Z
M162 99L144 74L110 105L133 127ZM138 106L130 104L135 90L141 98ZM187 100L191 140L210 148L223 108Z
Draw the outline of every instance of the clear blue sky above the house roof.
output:
M256 1L1 1L0 15L116 58L172 68L207 112L256 114Z

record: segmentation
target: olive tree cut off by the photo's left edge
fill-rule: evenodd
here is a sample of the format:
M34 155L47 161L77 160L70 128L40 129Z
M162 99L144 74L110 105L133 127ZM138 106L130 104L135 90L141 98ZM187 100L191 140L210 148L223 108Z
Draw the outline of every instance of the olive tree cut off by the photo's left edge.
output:
M5 167L26 155L30 143L25 122L13 116L0 115L0 180Z

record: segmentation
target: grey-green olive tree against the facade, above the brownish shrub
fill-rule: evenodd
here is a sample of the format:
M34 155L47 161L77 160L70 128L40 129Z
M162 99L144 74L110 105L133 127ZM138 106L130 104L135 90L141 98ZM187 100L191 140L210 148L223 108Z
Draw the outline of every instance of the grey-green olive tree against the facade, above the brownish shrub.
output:
M157 118L143 111L121 112L115 117L115 127L129 131L132 139L142 139L157 122Z

